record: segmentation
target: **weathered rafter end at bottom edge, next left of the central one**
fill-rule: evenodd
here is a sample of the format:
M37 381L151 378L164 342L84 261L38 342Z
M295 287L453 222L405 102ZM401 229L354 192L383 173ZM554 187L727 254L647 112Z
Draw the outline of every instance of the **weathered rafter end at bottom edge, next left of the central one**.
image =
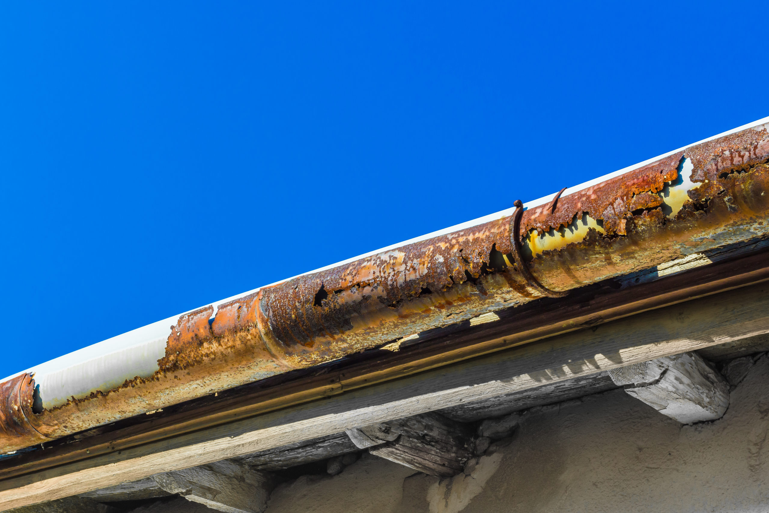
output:
M227 460L153 475L152 479L171 494L227 513L265 511L274 487L270 475Z

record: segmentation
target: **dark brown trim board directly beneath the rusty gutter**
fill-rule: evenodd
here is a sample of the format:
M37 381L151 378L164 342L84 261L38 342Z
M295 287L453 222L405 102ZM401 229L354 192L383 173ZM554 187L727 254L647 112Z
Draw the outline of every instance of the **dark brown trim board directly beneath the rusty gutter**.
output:
M413 375L491 351L562 335L586 325L600 325L639 311L752 285L769 278L769 254L754 254L765 242L744 245L737 248L738 251L719 250L719 258L731 256L726 261L681 275L667 275L670 271L667 269L661 273L666 276L659 281L628 288L609 280L575 290L568 298L545 298L498 311L498 321L475 326L462 322L422 332L419 338L399 344L399 351L366 351L330 365L292 371L218 395L186 401L152 415L139 415L46 442L45 451L25 451L0 459L0 479L98 455L121 454L128 448L164 438ZM736 256L739 260L730 259Z

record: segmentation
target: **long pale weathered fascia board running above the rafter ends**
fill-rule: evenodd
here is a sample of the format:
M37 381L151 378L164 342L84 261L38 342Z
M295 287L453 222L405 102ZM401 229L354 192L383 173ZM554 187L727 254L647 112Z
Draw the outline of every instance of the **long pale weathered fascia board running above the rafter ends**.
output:
M493 325L494 323L490 323ZM486 326L486 325L484 325ZM769 333L765 283L0 481L15 508ZM504 342L504 338L502 339Z

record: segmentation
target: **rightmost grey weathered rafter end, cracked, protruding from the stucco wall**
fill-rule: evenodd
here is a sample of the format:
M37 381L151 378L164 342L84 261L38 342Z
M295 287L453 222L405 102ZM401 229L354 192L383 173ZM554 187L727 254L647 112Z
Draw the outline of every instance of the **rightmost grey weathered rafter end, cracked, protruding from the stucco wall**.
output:
M614 368L609 375L629 395L681 424L714 421L729 406L729 384L697 353Z

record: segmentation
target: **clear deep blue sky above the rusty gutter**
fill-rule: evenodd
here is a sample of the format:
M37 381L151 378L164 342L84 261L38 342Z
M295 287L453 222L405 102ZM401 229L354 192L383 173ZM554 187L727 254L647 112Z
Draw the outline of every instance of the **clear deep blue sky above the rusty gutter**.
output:
M0 378L769 115L767 14L6 2Z

